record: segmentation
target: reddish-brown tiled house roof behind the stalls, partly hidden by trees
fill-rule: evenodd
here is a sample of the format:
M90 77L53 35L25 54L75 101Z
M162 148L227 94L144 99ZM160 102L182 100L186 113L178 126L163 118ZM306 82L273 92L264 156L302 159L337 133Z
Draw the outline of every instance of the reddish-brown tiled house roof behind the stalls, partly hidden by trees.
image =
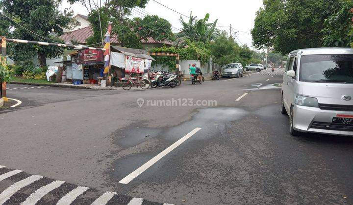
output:
M92 35L93 35L92 27L87 26L84 28L77 29L75 31L67 32L64 35L60 36L60 38L64 40L65 43L71 43L72 40L75 40L75 41L78 41L79 44L86 44L86 39ZM112 36L110 38L110 42L119 43L116 36ZM163 41L163 42L155 41L152 37L148 37L147 41L142 40L141 42L146 44L148 43L164 43L169 45L172 44L172 42L169 42L169 41Z

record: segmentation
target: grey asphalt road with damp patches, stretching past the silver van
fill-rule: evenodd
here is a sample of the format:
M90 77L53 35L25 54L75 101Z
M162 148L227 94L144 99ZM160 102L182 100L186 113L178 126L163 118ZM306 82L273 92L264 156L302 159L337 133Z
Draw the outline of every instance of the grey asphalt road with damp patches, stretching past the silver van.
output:
M0 192L39 175L6 203L55 204L84 186L73 204L107 191L111 204L353 204L353 138L290 136L281 81L269 70L146 91L10 84L23 103L0 111Z

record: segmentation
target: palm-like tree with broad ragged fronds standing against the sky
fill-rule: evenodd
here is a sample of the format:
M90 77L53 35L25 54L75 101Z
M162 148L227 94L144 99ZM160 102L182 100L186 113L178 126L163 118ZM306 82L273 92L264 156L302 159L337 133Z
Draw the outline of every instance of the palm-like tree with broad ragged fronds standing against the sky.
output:
M183 47L187 40L189 41L201 41L210 42L214 37L217 21L213 23L207 23L209 14L201 20L197 20L197 17L192 16L190 12L189 21L185 22L180 16L180 23L182 25L182 31L176 34L176 45Z

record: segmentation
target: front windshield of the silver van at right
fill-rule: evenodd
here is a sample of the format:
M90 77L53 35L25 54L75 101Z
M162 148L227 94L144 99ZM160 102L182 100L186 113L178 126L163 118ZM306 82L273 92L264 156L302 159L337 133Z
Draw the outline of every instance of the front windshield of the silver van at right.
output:
M353 83L353 55L302 56L300 81Z

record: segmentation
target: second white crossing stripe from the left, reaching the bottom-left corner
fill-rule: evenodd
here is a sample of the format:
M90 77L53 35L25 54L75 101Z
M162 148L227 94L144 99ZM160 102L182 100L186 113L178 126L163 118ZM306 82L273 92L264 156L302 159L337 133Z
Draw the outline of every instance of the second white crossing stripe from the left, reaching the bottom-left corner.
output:
M11 186L7 187L3 192L0 194L0 205L5 203L7 200L10 199L10 197L19 191L21 188L25 187L26 185L32 184L33 182L42 179L43 176L39 175L32 175L30 177L25 178L24 180L21 180L19 182L16 182L15 184L12 184Z

